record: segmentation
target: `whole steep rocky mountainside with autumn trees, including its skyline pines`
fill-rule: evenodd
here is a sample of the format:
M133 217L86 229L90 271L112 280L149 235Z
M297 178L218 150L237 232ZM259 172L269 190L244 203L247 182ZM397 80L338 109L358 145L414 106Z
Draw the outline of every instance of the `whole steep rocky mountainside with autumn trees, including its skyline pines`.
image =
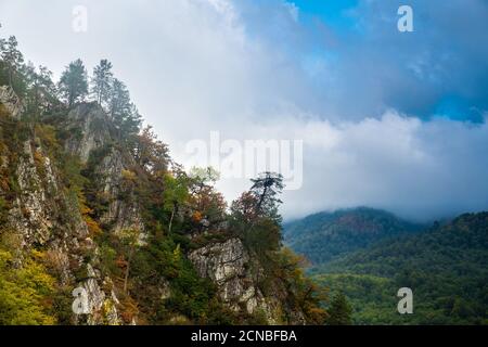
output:
M110 62L89 94L80 60L55 83L14 37L0 49L0 324L324 322L280 248L279 176L229 211L210 168L140 127Z

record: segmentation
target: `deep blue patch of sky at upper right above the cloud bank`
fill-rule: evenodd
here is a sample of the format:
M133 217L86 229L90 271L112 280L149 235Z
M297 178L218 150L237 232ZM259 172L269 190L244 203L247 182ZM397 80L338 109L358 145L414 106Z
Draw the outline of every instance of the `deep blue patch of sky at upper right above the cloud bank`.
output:
M324 61L334 57L331 68L338 69L346 82L359 87L360 113L394 107L425 120L447 117L484 121L483 111L488 107L486 1L298 0L293 3L305 26L322 24L329 28L334 43L321 44L316 40L311 56L317 60L322 54ZM414 33L395 30L399 18L396 10L400 4L412 7ZM364 70L357 70L358 64L363 64ZM383 80L371 83L375 76ZM323 88L331 87L337 88L328 83ZM345 95L338 98L345 101L338 107L344 113L344 104L351 94L342 92ZM370 93L381 98L373 104L363 101ZM338 101L330 104L334 102Z

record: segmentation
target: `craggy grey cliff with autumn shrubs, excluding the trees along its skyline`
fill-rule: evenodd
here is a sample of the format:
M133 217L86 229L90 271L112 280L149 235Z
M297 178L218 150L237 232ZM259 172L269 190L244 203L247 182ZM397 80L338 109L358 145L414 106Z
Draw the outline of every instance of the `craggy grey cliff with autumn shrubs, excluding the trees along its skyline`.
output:
M0 100L2 237L18 240L16 267L31 249L42 252L64 310L59 322L211 323L211 310L231 323L310 322L286 279L265 270L222 223L202 227L200 211L187 205L157 217L167 174L147 174L156 165L138 160L140 145L131 151L100 106L25 121L12 100ZM163 226L168 219L180 231ZM262 288L264 278L272 291ZM77 287L87 294L82 314L70 311Z

